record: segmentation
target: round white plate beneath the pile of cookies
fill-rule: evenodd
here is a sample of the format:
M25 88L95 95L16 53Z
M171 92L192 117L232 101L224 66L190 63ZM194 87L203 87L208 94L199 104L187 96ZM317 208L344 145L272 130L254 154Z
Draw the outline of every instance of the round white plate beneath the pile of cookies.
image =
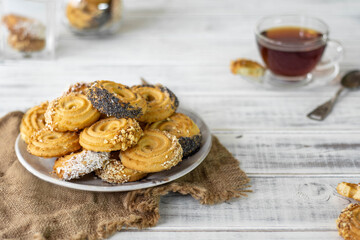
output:
M179 109L188 115L200 128L202 134L202 142L200 150L194 155L183 159L178 165L167 171L149 174L146 178L137 182L129 182L124 184L109 184L96 178L93 173L84 176L81 179L63 181L56 175L52 174L52 168L56 158L41 158L31 155L26 151L26 143L17 137L15 142L15 152L20 163L32 174L38 178L63 187L74 188L85 191L95 192L122 192L136 189L158 186L184 176L195 169L208 155L211 148L211 134L205 122L195 113Z

